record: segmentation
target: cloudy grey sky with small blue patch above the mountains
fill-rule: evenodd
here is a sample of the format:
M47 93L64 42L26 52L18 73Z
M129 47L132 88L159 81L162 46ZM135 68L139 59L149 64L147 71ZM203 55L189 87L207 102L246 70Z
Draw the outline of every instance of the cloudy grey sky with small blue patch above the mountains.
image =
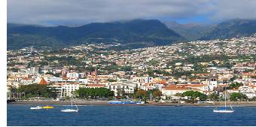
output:
M134 19L218 23L256 19L255 0L8 0L8 23L82 25Z

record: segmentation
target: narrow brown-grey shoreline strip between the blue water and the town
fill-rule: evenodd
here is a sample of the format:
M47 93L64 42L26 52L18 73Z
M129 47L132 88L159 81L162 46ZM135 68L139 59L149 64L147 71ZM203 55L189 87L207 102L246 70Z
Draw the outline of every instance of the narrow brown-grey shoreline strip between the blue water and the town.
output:
M59 104L59 105L69 105L71 101L14 101L9 102L7 104ZM129 106L209 106L209 107L221 107L224 105L224 102L217 101L215 104L204 103L204 104L191 104L191 103L172 103L172 102L152 102L149 104L108 104L108 101L76 101L76 104L79 105L107 105L107 106L119 106L119 105L129 105ZM231 102L227 103L227 105L231 104L233 107L256 107L256 101L239 101L239 102Z

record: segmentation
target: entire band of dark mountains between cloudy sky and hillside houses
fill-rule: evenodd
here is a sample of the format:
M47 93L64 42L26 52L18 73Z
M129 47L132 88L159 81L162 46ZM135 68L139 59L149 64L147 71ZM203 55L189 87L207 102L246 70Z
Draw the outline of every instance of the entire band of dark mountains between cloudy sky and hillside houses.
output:
M84 26L32 26L8 23L8 49L68 47L84 43L120 43L126 48L151 47L181 41L224 39L252 35L256 20L227 20L218 24L178 24L159 20L90 23Z

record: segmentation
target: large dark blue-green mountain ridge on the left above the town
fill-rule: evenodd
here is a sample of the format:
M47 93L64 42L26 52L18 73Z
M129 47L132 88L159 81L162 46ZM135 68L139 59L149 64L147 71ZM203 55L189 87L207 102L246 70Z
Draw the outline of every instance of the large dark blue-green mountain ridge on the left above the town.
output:
M132 20L126 23L89 23L84 26L17 26L8 25L8 48L17 49L23 47L23 43L29 46L28 42L19 41L36 41L33 44L39 44L38 39L43 39L41 45L53 46L55 44L66 46L75 44L84 44L85 42L104 42L110 41L108 38L115 38L119 43L129 44L130 42L151 42L155 45L172 44L176 41L185 39L176 32L168 29L159 20ZM20 38L18 38L20 37ZM33 38L32 38L33 37ZM38 39L36 39L38 38ZM106 38L97 40L97 38ZM47 42L45 42L47 41ZM52 41L52 42L49 42ZM21 44L21 45L19 45ZM145 45L146 46L146 45Z

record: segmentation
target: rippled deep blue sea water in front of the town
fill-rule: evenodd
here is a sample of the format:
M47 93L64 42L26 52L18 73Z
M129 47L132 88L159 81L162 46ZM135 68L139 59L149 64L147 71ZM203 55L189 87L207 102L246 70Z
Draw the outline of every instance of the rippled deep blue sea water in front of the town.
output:
M79 106L78 113L53 109L30 110L37 105L8 104L7 125L256 125L256 107L233 107L234 113L213 113L214 107L172 106ZM41 105L43 106L43 105Z

